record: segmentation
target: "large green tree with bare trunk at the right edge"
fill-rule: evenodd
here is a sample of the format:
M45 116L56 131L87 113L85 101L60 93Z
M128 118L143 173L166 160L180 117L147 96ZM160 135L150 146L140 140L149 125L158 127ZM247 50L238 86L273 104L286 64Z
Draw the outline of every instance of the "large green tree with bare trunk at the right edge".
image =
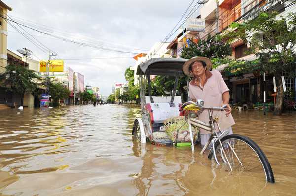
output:
M295 77L296 14L290 13L284 18L276 12L262 13L251 21L233 23L231 28L224 36L228 42L242 39L250 43L250 53L259 59L229 66L229 70L239 68L240 72L260 71L274 75L278 86L274 115L281 115L284 101L281 76L286 73L288 77Z

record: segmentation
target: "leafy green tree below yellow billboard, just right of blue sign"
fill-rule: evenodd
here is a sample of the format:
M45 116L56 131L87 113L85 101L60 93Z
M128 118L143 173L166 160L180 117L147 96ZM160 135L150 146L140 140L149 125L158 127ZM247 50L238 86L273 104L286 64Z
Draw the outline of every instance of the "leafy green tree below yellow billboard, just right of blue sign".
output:
M63 83L56 82L55 80L49 80L49 93L51 95L53 106L59 106L60 99L68 98L70 95L68 88L65 87Z

